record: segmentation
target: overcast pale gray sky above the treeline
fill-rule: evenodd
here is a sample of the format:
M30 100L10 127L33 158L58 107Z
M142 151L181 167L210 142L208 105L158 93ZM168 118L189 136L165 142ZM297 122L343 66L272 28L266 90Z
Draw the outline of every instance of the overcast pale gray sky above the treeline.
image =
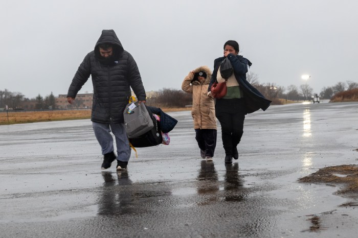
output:
M2 1L0 90L66 94L102 29L113 29L146 91L180 89L190 70L213 69L231 39L260 83L299 87L308 74L319 93L358 82L357 9L356 0Z

